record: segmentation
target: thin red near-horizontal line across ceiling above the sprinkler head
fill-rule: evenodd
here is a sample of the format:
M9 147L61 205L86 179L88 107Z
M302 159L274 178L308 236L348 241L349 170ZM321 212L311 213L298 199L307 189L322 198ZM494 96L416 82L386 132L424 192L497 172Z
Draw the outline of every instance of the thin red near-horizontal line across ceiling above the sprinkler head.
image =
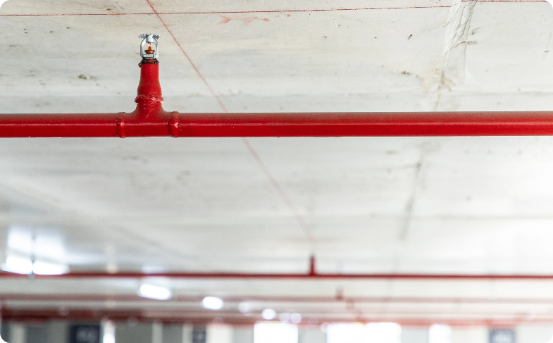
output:
M474 0L462 0L469 2ZM547 0L478 0L478 2L548 2ZM457 4L459 4L457 3ZM149 4L149 1L148 1ZM151 6L151 4L149 4ZM456 6L456 5L454 5ZM232 13L294 13L294 12L333 12L333 11L371 11L371 10L403 10L411 8L450 8L452 6L407 6L407 7L367 7L367 8L315 8L298 10L259 10L259 11L205 11L205 12L157 12L156 13L39 13L39 14L0 14L0 17L40 17L40 16L66 16L66 15L170 15L170 14L232 14ZM154 10L155 11L155 10ZM165 25L165 24L164 24Z

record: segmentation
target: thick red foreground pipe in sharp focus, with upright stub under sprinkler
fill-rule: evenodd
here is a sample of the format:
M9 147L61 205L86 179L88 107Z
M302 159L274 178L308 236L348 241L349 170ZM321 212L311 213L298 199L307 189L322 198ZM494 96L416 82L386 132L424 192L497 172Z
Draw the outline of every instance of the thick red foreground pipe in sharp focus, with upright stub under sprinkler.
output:
M553 112L178 113L159 63L140 63L132 113L4 114L0 137L340 137L553 135Z

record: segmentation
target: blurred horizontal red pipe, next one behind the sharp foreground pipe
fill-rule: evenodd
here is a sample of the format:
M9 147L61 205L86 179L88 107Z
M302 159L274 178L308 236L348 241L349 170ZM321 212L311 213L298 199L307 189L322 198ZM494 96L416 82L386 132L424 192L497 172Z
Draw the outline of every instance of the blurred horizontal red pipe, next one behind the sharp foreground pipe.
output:
M106 273L71 272L62 275L22 275L0 273L0 278L89 279L168 277L175 279L266 279L266 280L553 280L553 275L533 274L301 274L301 273Z

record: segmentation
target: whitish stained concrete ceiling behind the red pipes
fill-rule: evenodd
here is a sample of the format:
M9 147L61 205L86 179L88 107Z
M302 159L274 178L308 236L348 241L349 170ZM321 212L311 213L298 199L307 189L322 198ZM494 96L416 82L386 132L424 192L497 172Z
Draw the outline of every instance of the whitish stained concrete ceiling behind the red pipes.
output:
M161 35L169 111L550 110L551 27L547 1L8 0L1 112L132 111L144 32ZM49 243L32 254L71 270L303 273L315 254L322 273L553 274L552 142L2 139L0 255L30 254L10 237L34 235ZM241 301L254 319L272 306L320 320L553 320L545 281L155 282L178 297L109 298L134 297L139 280L3 280L0 292L10 308L95 294L112 302L41 306L190 320L248 319ZM419 300L352 308L337 293ZM226 312L201 310L204 295L226 297Z

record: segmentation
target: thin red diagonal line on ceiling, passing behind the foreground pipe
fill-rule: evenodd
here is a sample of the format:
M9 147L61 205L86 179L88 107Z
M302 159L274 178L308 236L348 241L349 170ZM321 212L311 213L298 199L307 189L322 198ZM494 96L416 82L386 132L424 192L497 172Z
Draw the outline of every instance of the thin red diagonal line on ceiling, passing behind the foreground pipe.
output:
M189 61L190 65L192 66L192 68L194 68L197 75L201 78L201 81L204 82L204 85L206 85L206 87L209 89L209 92L211 92L211 94L215 97L215 99L219 103L220 108L222 108L225 113L228 113L228 109L226 108L225 104L223 104L223 101L221 101L219 96L213 91L213 88L211 88L211 86L209 85L209 83L207 82L205 77L203 75L201 75L199 69L194 64L194 62L192 62L192 59L188 56L185 49L182 49L182 46L178 42L175 35L173 35L173 32L171 32L171 30L169 30L169 27L167 27L166 23L161 18L160 13L158 13L156 11L156 8L154 8L154 6L150 3L149 0L146 0L146 1L149 4L149 6L151 7L151 10L154 11L154 13L156 13L157 17L159 18L159 20L161 21L163 26L166 28L167 32L169 32L169 35L171 35L171 37L173 37L173 40L175 41L175 43L177 43L178 47L180 48L180 51L182 51L182 54L185 54L185 56L186 56L187 60ZM251 146L251 144L249 143L249 141L246 138L242 138L242 142L244 142L244 144L246 145L249 153L251 154L251 156L254 157L254 160L257 162L257 164L259 165L259 167L261 168L263 173L269 179L269 182L271 182L271 185L273 185L273 187L277 191L277 193L280 196L280 198L282 199L282 201L285 202L285 204L288 207L288 209L290 210L290 212L292 212L292 216L294 216L294 218L296 218L297 222L299 223L299 226L302 227L302 230L304 231L304 234L306 235L307 239L309 240L309 243L313 244L313 242L314 242L313 233L311 232L311 230L309 230L309 226L305 222L302 215L299 214L299 211L297 211L297 209L294 207L294 204L292 204L292 201L290 201L290 199L286 196L286 194L282 190L282 187L280 187L280 185L278 184L275 177L273 177L271 172L265 166L265 163L263 163L263 161L261 161L261 158L259 157L259 154L256 153L254 147Z

